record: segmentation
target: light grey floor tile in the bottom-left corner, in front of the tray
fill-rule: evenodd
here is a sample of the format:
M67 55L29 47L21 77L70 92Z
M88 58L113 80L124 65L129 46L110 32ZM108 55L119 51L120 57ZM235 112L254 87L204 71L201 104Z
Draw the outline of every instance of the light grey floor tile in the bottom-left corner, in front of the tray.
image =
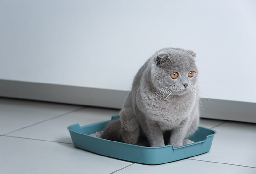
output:
M0 173L111 173L130 162L77 149L71 144L0 137Z

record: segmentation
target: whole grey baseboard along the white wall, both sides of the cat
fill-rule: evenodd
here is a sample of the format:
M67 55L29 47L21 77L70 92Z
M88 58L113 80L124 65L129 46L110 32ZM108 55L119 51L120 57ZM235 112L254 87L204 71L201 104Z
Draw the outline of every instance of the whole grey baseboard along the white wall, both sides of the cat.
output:
M129 91L0 79L0 96L120 109ZM200 98L202 118L256 123L256 103Z

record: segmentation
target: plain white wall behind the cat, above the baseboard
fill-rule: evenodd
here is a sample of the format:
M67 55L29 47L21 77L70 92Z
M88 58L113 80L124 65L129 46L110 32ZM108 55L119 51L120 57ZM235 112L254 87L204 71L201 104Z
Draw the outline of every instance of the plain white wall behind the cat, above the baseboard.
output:
M256 103L256 1L0 3L0 79L130 90L158 49L197 53L202 97Z

